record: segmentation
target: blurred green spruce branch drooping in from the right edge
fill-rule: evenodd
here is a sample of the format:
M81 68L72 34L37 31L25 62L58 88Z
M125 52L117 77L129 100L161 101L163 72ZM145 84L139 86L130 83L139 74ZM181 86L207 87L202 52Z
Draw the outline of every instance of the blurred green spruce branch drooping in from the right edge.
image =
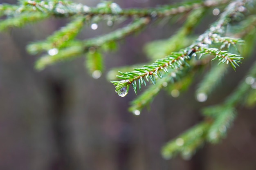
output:
M251 79L251 81L248 80ZM217 143L226 136L227 129L232 125L234 119L236 118L236 107L245 104L250 96L249 92L253 88L253 77L256 77L256 63L254 63L238 87L235 89L234 93L231 93L225 101L217 106L211 106L204 108L202 113L204 116L213 119L213 123L209 128L207 135L207 140L211 143Z

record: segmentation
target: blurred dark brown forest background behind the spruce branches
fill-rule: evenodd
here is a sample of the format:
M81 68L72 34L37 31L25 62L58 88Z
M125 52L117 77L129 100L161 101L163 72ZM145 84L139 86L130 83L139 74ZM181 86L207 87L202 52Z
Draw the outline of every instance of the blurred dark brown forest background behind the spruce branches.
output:
M76 0L96 6L99 0ZM122 8L154 7L170 0L115 0ZM178 0L176 0L178 2ZM0 0L0 3L16 3ZM212 13L195 33L203 33L216 20ZM222 81L218 93L204 103L195 99L200 77L186 93L173 98L162 91L150 110L140 116L127 111L136 96L121 98L106 79L112 67L146 62L146 42L168 38L180 23L151 24L143 33L119 43L105 55L106 72L93 79L83 58L36 71L36 57L25 46L43 40L67 20L49 19L23 29L0 33L0 170L255 170L256 109L239 108L227 138L206 145L190 160L164 160L161 147L197 124L200 108L221 101L243 77L255 57L243 60L236 72ZM115 29L106 22L97 30L87 27L79 37L91 38ZM252 44L254 45L254 44ZM210 67L210 65L209 65Z

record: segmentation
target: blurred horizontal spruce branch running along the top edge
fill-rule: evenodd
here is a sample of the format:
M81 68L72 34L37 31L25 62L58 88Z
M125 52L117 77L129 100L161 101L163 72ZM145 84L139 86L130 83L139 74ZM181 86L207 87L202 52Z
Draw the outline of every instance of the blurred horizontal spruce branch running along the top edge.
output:
M82 4L76 4L69 1L56 1L54 2L38 2L28 0L24 2L24 5L36 7L36 10L51 13L51 15L57 17L71 17L73 15L84 15L86 17L93 17L96 15L114 15L124 17L157 17L164 18L166 16L177 15L179 13L185 13L192 11L198 7L215 7L221 4L227 4L229 0L214 1L207 0L202 2L200 0L193 0L189 2L182 2L175 5L164 5L157 8L149 9L121 9L118 4L111 1L103 1L92 8Z

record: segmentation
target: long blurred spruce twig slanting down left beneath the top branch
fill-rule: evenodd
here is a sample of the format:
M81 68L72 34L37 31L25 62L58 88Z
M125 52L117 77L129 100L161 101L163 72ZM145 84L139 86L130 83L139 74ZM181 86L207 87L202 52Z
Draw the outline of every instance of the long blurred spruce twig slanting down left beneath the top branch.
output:
M38 70L42 70L45 68L45 66L54 64L59 61L63 60L70 60L73 59L74 57L78 57L80 55L83 55L83 53L87 52L91 47L95 49L99 49L101 46L104 44L112 43L113 41L121 40L124 37L127 37L128 35L131 35L132 33L135 33L144 26L148 24L150 21L149 18L141 18L139 20L136 20L129 24L128 26L125 26L124 28L118 29L116 31L113 31L112 33L106 34L99 36L97 38L92 38L84 41L73 41L70 42L72 43L71 47L63 48L58 53L55 55L45 55L41 57L37 62L36 62L36 68ZM42 46L35 46L31 44L28 46L29 51L34 52L37 51L35 49L49 49L49 44L40 44ZM57 49L58 50L58 49Z

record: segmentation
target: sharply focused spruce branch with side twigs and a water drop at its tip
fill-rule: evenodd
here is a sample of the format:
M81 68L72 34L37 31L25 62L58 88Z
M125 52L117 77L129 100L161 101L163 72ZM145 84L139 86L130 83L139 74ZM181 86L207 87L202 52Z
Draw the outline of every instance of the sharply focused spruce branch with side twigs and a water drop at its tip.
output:
M223 46L226 44L243 43L243 41L239 39L225 39L225 37L218 36L218 34L223 34L223 27L227 26L227 24L232 21L231 17L234 15L234 13L238 12L238 7L243 5L244 3L240 1L229 4L226 11L222 13L220 19L216 23L212 24L209 30L200 35L199 38L186 49L182 49L176 53L173 52L171 55L168 55L163 59L156 60L153 64L148 66L135 68L135 71L126 73L120 72L121 76L117 75L117 77L123 80L112 81L116 88L115 91L119 94L120 90L123 91L124 89L127 89L127 86L130 84L132 84L132 87L136 89L135 86L137 85L136 81L138 79L144 80L144 78L146 78L148 82L150 79L150 81L155 84L155 77L162 78L162 72L168 73L168 68L175 70L182 69L185 64L187 64L186 60L190 60L192 55L196 55L196 53L214 55L215 58L213 60L219 60L219 64L231 64L231 66L235 69L236 66L239 66L238 63L241 63L240 60L243 59L243 57L228 53L227 51L221 51L217 48L209 48L209 45L212 44L212 40L213 42L217 43L222 42L221 48L223 48ZM189 66L189 64L187 65ZM138 83L141 84L141 81ZM135 91L135 93L137 92Z

